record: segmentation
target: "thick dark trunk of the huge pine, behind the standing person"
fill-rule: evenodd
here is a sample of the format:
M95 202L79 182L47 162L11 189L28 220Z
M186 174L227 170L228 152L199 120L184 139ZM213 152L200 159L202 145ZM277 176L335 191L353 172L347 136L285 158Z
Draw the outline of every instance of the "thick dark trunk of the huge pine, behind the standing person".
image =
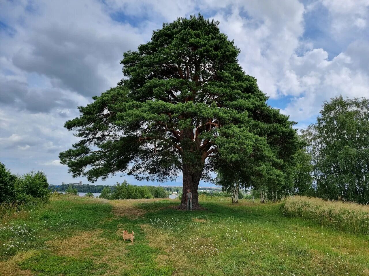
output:
M202 170L193 171L190 166L183 165L183 187L182 187L182 199L179 205L179 210L187 210L186 194L187 190L192 193L192 210L204 210L199 204L199 188L200 178Z

